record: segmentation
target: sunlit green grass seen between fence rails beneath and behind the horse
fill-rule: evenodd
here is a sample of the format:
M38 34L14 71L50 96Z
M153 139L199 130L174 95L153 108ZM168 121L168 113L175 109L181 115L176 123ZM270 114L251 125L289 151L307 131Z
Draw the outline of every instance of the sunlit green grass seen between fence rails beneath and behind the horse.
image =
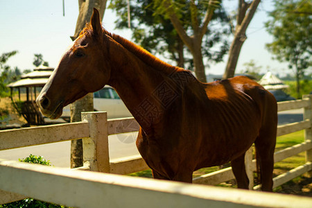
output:
M294 132L294 133L291 133L289 135L277 137L277 144L276 144L275 152L277 152L279 150L283 150L284 148L288 148L290 146L294 146L295 144L300 144L303 141L304 141L304 130ZM295 155L293 157L288 157L288 158L282 160L281 162L275 163L274 173L275 173L275 175L279 175L281 173L285 173L286 171L290 171L291 169L293 169L297 166L300 166L304 163L305 163L305 158L304 158L304 152L303 152L303 153L300 153L300 154ZM225 166L229 166L229 164L227 164ZM219 169L220 169L219 166L213 166L213 167L209 167L209 168L201 168L200 170L195 171L193 173L193 177L198 177L200 175L204 175L207 173L218 171ZM138 177L153 177L152 171L150 171L150 170L141 171L141 172L137 172L137 173L131 173L129 175L138 176ZM232 187L234 187L234 186L232 186ZM227 187L228 187L228 185L227 185Z

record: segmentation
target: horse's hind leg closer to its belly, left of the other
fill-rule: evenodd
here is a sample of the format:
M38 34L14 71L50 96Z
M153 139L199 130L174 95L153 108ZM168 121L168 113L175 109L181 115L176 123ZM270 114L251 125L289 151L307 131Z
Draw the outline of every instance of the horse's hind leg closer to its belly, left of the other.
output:
M249 180L245 170L245 153L231 161L232 171L239 189L248 189Z

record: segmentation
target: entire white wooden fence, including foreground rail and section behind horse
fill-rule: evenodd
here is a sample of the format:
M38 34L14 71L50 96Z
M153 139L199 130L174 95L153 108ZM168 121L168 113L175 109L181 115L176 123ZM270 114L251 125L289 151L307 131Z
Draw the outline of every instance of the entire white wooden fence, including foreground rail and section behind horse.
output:
M292 110L292 109L297 109L297 108L302 108L304 107L304 121L300 121L297 123L291 123L291 124L287 124L287 125L282 125L278 127L277 130L277 135L281 136L281 135L286 135L289 134L291 132L296 132L298 130L302 130L304 129L304 137L305 137L305 141L302 144L297 144L291 148L286 148L284 150L281 150L277 153L275 153L275 162L278 162L282 159L285 159L287 157L291 157L292 155L297 155L298 153L301 153L303 151L306 152L306 164L304 164L303 166L299 166L291 171L289 171L288 173L284 173L282 175L279 175L277 177L275 177L274 179L274 187L278 187L279 185L283 184L284 182L287 182L288 180L293 179L294 177L297 177L298 175L302 175L303 173L309 174L311 177L311 170L312 170L312 144L311 144L311 138L312 138L312 128L311 128L311 121L312 121L312 111L311 111L311 101L312 101L312 96L311 95L306 95L304 96L304 98L302 100L297 100L297 101L287 101L287 102L281 102L278 103L278 110L280 111L284 111L284 110ZM128 157L128 158L123 158L123 159L115 159L110 160L109 157L109 151L108 151L108 135L114 135L114 134L119 134L119 133L124 133L124 132L133 132L135 130L139 129L139 125L137 124L137 122L135 121L135 119L114 119L114 120L107 120L107 114L105 112L88 112L88 113L83 113L83 121L78 122L78 123L66 123L66 124L58 124L58 125L46 125L46 126L40 126L40 127L35 127L35 128L25 128L25 129L19 129L19 130L3 130L0 132L0 150L7 150L7 149L12 149L12 148L21 148L21 147L25 147L25 146L34 146L34 145L39 145L39 144L49 144L49 143L53 143L53 142L59 142L59 141L68 141L68 140L73 140L73 139L83 139L83 148L84 148L84 162L85 165L83 167L80 168L76 168L76 169L82 169L82 170L91 170L91 171L98 171L98 172L104 172L104 173L117 173L117 174L128 174L128 173L134 173L137 171L143 171L146 170L148 168L148 166L146 166L144 160L141 157ZM17 142L17 138L18 138L18 142ZM25 174L27 172L26 175L23 174L19 174L22 173L24 170ZM42 171L44 170L44 171ZM252 161L252 150L248 151L248 154L246 154L246 170L248 171L248 176L250 177L250 181L252 180L252 171L255 170L255 161ZM23 172L23 173L24 173ZM60 168L52 168L51 167L42 167L42 166L35 166L32 164L21 164L19 162L0 162L0 189L2 189L2 191L0 190L0 204L6 203L6 202L10 202L10 201L14 201L14 200L19 200L21 198L25 198L24 195L26 196L31 196L34 198L38 198L40 200L46 200L46 198L44 198L41 193L44 192L44 190L49 189L46 187L46 184L44 183L45 180L47 180L47 177L57 177L57 178L67 178L69 177L69 175L74 175L73 178L75 178L75 185L73 186L78 186L80 187L81 185L76 184L77 183L83 183L85 182L86 184L90 183L90 184L94 184L94 182L98 182L98 186L101 187L103 184L103 187L105 187L107 184L110 184L110 182L107 182L106 180L92 180L93 177L96 178L100 178L101 176L98 176L96 174L104 174L104 173L86 173L86 172L81 172L81 171L77 171L74 172L73 170L68 170L68 171L64 171L61 170ZM46 176L46 174L48 174L48 176ZM79 174L82 174L81 177L79 176ZM32 174L39 174L39 175L44 175L42 176L42 188L40 187L40 182L36 182L36 177L35 176L31 176ZM62 176L64 174L64 176ZM94 174L96 176L94 176ZM15 180L19 181L19 183L15 183L13 180L12 175L18 175L16 176ZM29 175L29 177L28 177ZM27 177L27 180L24 180L24 178ZM41 177L41 176L38 176ZM116 182L119 178L121 178L122 180L129 180L132 181L134 179L128 179L128 177L121 177L121 176L112 176L112 175L103 175L103 178L106 177L114 177L114 182ZM116 177L116 179L115 179ZM33 178L33 180L31 180ZM200 177L196 177L193 179L193 182L198 184L219 184L220 182L225 182L227 180L231 180L234 178L234 175L232 173L232 168L225 168L223 170L220 171L216 171L214 173L209 173L207 175L201 175ZM77 179L77 180L76 180ZM60 179L61 180L61 179ZM65 180L65 179L64 179ZM138 180L138 181L137 181ZM145 183L146 181L143 179L135 179L135 183L139 182L139 183ZM24 182L23 182L24 181ZM56 184L56 181L54 181ZM113 183L114 183L113 182ZM153 180L153 182L158 183L159 181L156 182L156 180ZM146 183L153 183L153 182L146 182ZM31 189L30 184L35 183L37 184L35 187L33 187L33 189ZM169 187L175 187L174 182L161 182L161 183L168 183ZM20 185L19 185L20 184ZM152 188L141 188L141 187L137 187L135 188L134 184L122 184L121 182L117 183L118 185L116 185L119 188L116 189L121 189L121 187L127 187L127 190L129 189L148 189L151 190ZM172 184L172 185L171 185ZM130 187L128 187L128 185ZM93 185L92 185L93 186ZM90 185L90 189L88 189L89 191L94 189L92 188L92 186ZM96 186L96 185L94 185ZM108 185L107 185L108 186ZM151 187L157 187L158 185L153 185ZM179 184L177 186L182 186L181 189L184 190L184 188L189 189L189 185L186 184ZM16 187L20 187L19 189L17 189ZM108 186L110 187L110 186ZM194 189L208 189L207 187L203 188L197 188L197 186L195 186L196 188ZM253 187L253 184L251 184L250 188ZM158 187L159 188L159 187ZM205 201L205 203L207 203L206 205L208 205L211 200L213 202L216 202L218 206L221 206L224 204L228 205L227 202L231 203L231 205L250 205L250 206L256 206L256 204L254 204L254 200L252 199L252 201L250 202L243 202L243 204L241 204L241 202L239 201L235 201L234 198L231 198L231 200L227 200L226 198L229 197L228 194L225 193L225 189L222 189L222 191L217 191L220 195L225 194L225 197L222 198L222 200L225 200L224 202L218 202L218 200L220 198L209 198L209 196L202 196L202 193L199 192L194 192L193 194L191 194L191 196L189 195L189 193L191 192L187 192L187 194L184 194L185 191L179 191L177 189L170 189L170 191L166 191L164 189L158 189L155 188L151 191L151 193L153 192L157 192L157 194L164 194L166 195L166 193L168 193L168 196L171 195L176 195L187 199L189 197L195 199L198 199L198 203L200 203L202 200ZM44 189L44 190L42 190ZM209 187L209 189L211 189L212 191L208 191L207 195L209 195L208 193L214 192L213 190L215 188L211 188ZM259 187L253 187L253 189L259 189ZM62 190L62 189L60 189ZM76 192L81 192L81 193L85 193L85 190L80 190L78 191L78 189L75 189ZM73 190L73 192L75 193L75 190ZM103 190L99 190L96 189L98 191L100 191L99 193L94 193L94 196L99 197L99 198L103 198L103 195L105 195L105 191L109 190L108 188L105 189L103 188ZM55 188L56 191L56 188ZM227 190L226 190L227 191ZM237 198L242 198L243 195L245 195L246 193L241 192L241 190L237 190L238 192L235 192L234 196L236 196ZM67 192L67 191L64 191ZM94 192L94 191L93 191ZM93 193L92 192L92 193ZM139 191L140 192L140 191ZM18 193L18 194L17 194ZM46 191L46 193L48 194L48 191ZM50 192L49 192L50 193ZM141 192L140 192L141 193ZM170 194L169 194L170 193ZM20 195L21 194L21 195ZM51 193L52 194L52 193ZM53 193L51 196L55 196L56 193ZM131 196L130 193L125 193L127 194L127 196ZM231 193L232 194L232 193ZM242 196L240 194L243 194ZM253 196L252 193L249 196ZM262 193L261 193L262 194ZM62 194L61 194L62 195ZM121 196L123 196L123 193L121 194ZM153 200L151 200L151 196L146 196L145 193L142 200L150 200L150 202L153 202ZM168 197L166 196L166 197ZM215 196L213 194L213 196ZM91 196L90 196L91 197ZM133 202L138 202L140 199L136 198L138 196L134 196L135 198L132 199L132 203ZM53 198L53 197L52 197ZM85 207L85 204L80 204L80 205L73 205L71 202L72 201L71 198L75 198L74 196L68 196L68 198L66 199L61 199L61 200L53 200L50 199L46 200L49 202L55 202L55 203L60 203L60 204L64 204L64 205L69 205L69 206L73 206L73 207ZM94 197L93 197L94 198ZM104 197L105 198L105 197ZM170 197L169 197L170 198ZM106 199L106 198L105 198ZM95 200L95 198L94 198ZM108 200L110 200L110 202L114 202L112 201L112 198L109 198ZM128 199L130 200L130 199ZM284 200L284 199L283 199ZM308 199L304 199L304 200L308 200ZM69 202L69 204L67 204L67 201ZM95 200L96 201L96 200ZM154 200L155 201L155 200ZM263 200L265 201L265 200ZM279 200L281 202L281 200ZM284 202L286 202L288 200L284 200ZM127 200L123 201L125 203L125 205L130 205L128 204ZM122 203L123 203L122 202ZM165 202L165 201L164 201ZM184 200L181 200L181 202L184 202ZM116 203L118 203L116 201ZM212 202L211 202L212 203ZM311 201L310 201L311 203ZM96 204L94 204L96 205ZM168 204L172 205L173 204ZM199 204L198 204L199 205ZM263 204L263 205L259 205L261 207L274 207L276 204L273 203L270 206L267 206L268 204ZM285 203L285 206L287 207L288 205L293 205L291 203L287 204ZM302 202L300 202L300 205L302 205ZM308 205L308 204L307 204ZM311 204L310 204L311 205ZM168 207L166 206L166 207ZM88 206L87 206L88 207ZM125 207L131 207L131 206L125 206ZM284 207L283 205L280 205L279 207ZM288 206L289 207L289 206Z

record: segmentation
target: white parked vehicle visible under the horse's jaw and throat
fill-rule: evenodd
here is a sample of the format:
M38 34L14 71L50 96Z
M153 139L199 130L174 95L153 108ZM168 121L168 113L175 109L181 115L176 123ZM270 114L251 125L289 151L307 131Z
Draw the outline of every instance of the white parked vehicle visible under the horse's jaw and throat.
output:
M94 92L94 111L106 111L108 119L132 117L128 108L117 92L110 86L105 86L97 92ZM70 117L69 105L64 107L62 117Z

